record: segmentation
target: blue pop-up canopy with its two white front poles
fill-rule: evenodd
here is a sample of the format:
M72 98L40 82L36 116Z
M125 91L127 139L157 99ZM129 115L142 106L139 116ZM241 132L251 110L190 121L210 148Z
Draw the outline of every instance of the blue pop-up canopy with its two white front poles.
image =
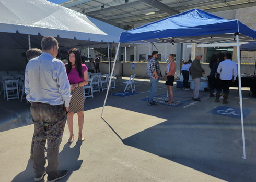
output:
M221 43L236 42L238 58L238 79L239 79L239 97L241 110L243 157L246 159L245 137L243 129L242 114L242 92L241 92L241 71L239 56L239 40L249 42L256 38L256 31L250 29L238 20L227 20L222 17L210 14L200 9L191 9L168 18L146 24L126 32L122 32L118 44L124 43ZM117 53L118 53L117 50ZM111 78L117 60L115 55ZM110 87L110 83L108 87ZM109 89L108 89L109 90ZM104 100L101 113L108 97L108 91Z

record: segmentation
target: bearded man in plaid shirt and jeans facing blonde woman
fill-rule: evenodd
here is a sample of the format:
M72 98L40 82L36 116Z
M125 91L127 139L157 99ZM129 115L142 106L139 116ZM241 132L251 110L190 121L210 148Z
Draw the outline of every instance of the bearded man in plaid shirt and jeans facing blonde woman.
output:
M155 101L153 101L154 94L156 93L159 78L161 75L159 63L156 60L157 58L158 58L158 52L153 51L152 58L149 62L149 67L148 67L148 73L149 73L150 82L151 82L151 90L150 90L149 96L148 96L148 105L149 106L157 106Z

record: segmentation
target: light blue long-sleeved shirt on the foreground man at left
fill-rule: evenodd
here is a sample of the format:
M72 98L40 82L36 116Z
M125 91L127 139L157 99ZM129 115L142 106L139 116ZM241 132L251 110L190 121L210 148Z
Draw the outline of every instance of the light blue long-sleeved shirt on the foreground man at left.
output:
M31 59L25 71L25 93L29 102L68 107L71 94L64 63L46 52Z

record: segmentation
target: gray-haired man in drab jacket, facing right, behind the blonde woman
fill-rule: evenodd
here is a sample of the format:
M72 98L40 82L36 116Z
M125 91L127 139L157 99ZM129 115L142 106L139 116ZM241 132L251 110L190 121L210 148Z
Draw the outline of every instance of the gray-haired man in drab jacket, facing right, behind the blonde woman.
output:
M194 80L195 83L195 88L193 91L192 98L194 101L200 102L199 100L199 88L200 88L200 78L203 77L203 74L205 72L205 69L202 68L200 64L200 60L202 59L203 54L201 53L196 53L195 54L195 59L193 60L191 67L190 67L190 72L191 72L191 77Z

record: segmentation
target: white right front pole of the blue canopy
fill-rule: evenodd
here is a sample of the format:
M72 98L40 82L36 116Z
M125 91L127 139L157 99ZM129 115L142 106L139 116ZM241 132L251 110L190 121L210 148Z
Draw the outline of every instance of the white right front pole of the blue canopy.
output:
M242 112L242 89L241 89L241 70L240 70L240 55L239 55L239 35L236 35L237 39L237 66L238 66L238 88L240 99L240 112L241 112L241 125L242 125L242 147L243 147L243 159L246 159L246 147L245 147L245 132L243 129L243 112Z

